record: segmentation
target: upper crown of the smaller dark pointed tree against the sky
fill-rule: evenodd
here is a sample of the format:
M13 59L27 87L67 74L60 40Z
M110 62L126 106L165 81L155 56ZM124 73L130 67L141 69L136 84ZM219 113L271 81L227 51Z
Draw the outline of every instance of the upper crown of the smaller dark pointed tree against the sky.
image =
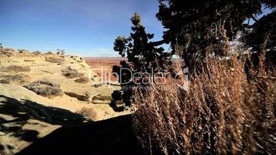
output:
M164 42L150 42L154 34L147 34L145 27L141 25L141 18L137 12L130 19L133 23L133 33L128 38L118 36L114 42L114 50L121 56L126 56L132 64L133 71L150 71L152 68L157 71L165 69L170 64L171 54L164 52Z

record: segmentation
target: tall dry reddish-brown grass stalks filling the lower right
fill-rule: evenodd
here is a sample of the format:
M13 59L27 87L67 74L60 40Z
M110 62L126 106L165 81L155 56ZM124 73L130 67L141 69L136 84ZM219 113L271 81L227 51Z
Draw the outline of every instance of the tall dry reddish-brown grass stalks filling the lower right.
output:
M209 60L207 69L190 76L188 91L174 78L134 89L133 128L143 148L149 154L275 153L275 78L248 82L235 58Z

